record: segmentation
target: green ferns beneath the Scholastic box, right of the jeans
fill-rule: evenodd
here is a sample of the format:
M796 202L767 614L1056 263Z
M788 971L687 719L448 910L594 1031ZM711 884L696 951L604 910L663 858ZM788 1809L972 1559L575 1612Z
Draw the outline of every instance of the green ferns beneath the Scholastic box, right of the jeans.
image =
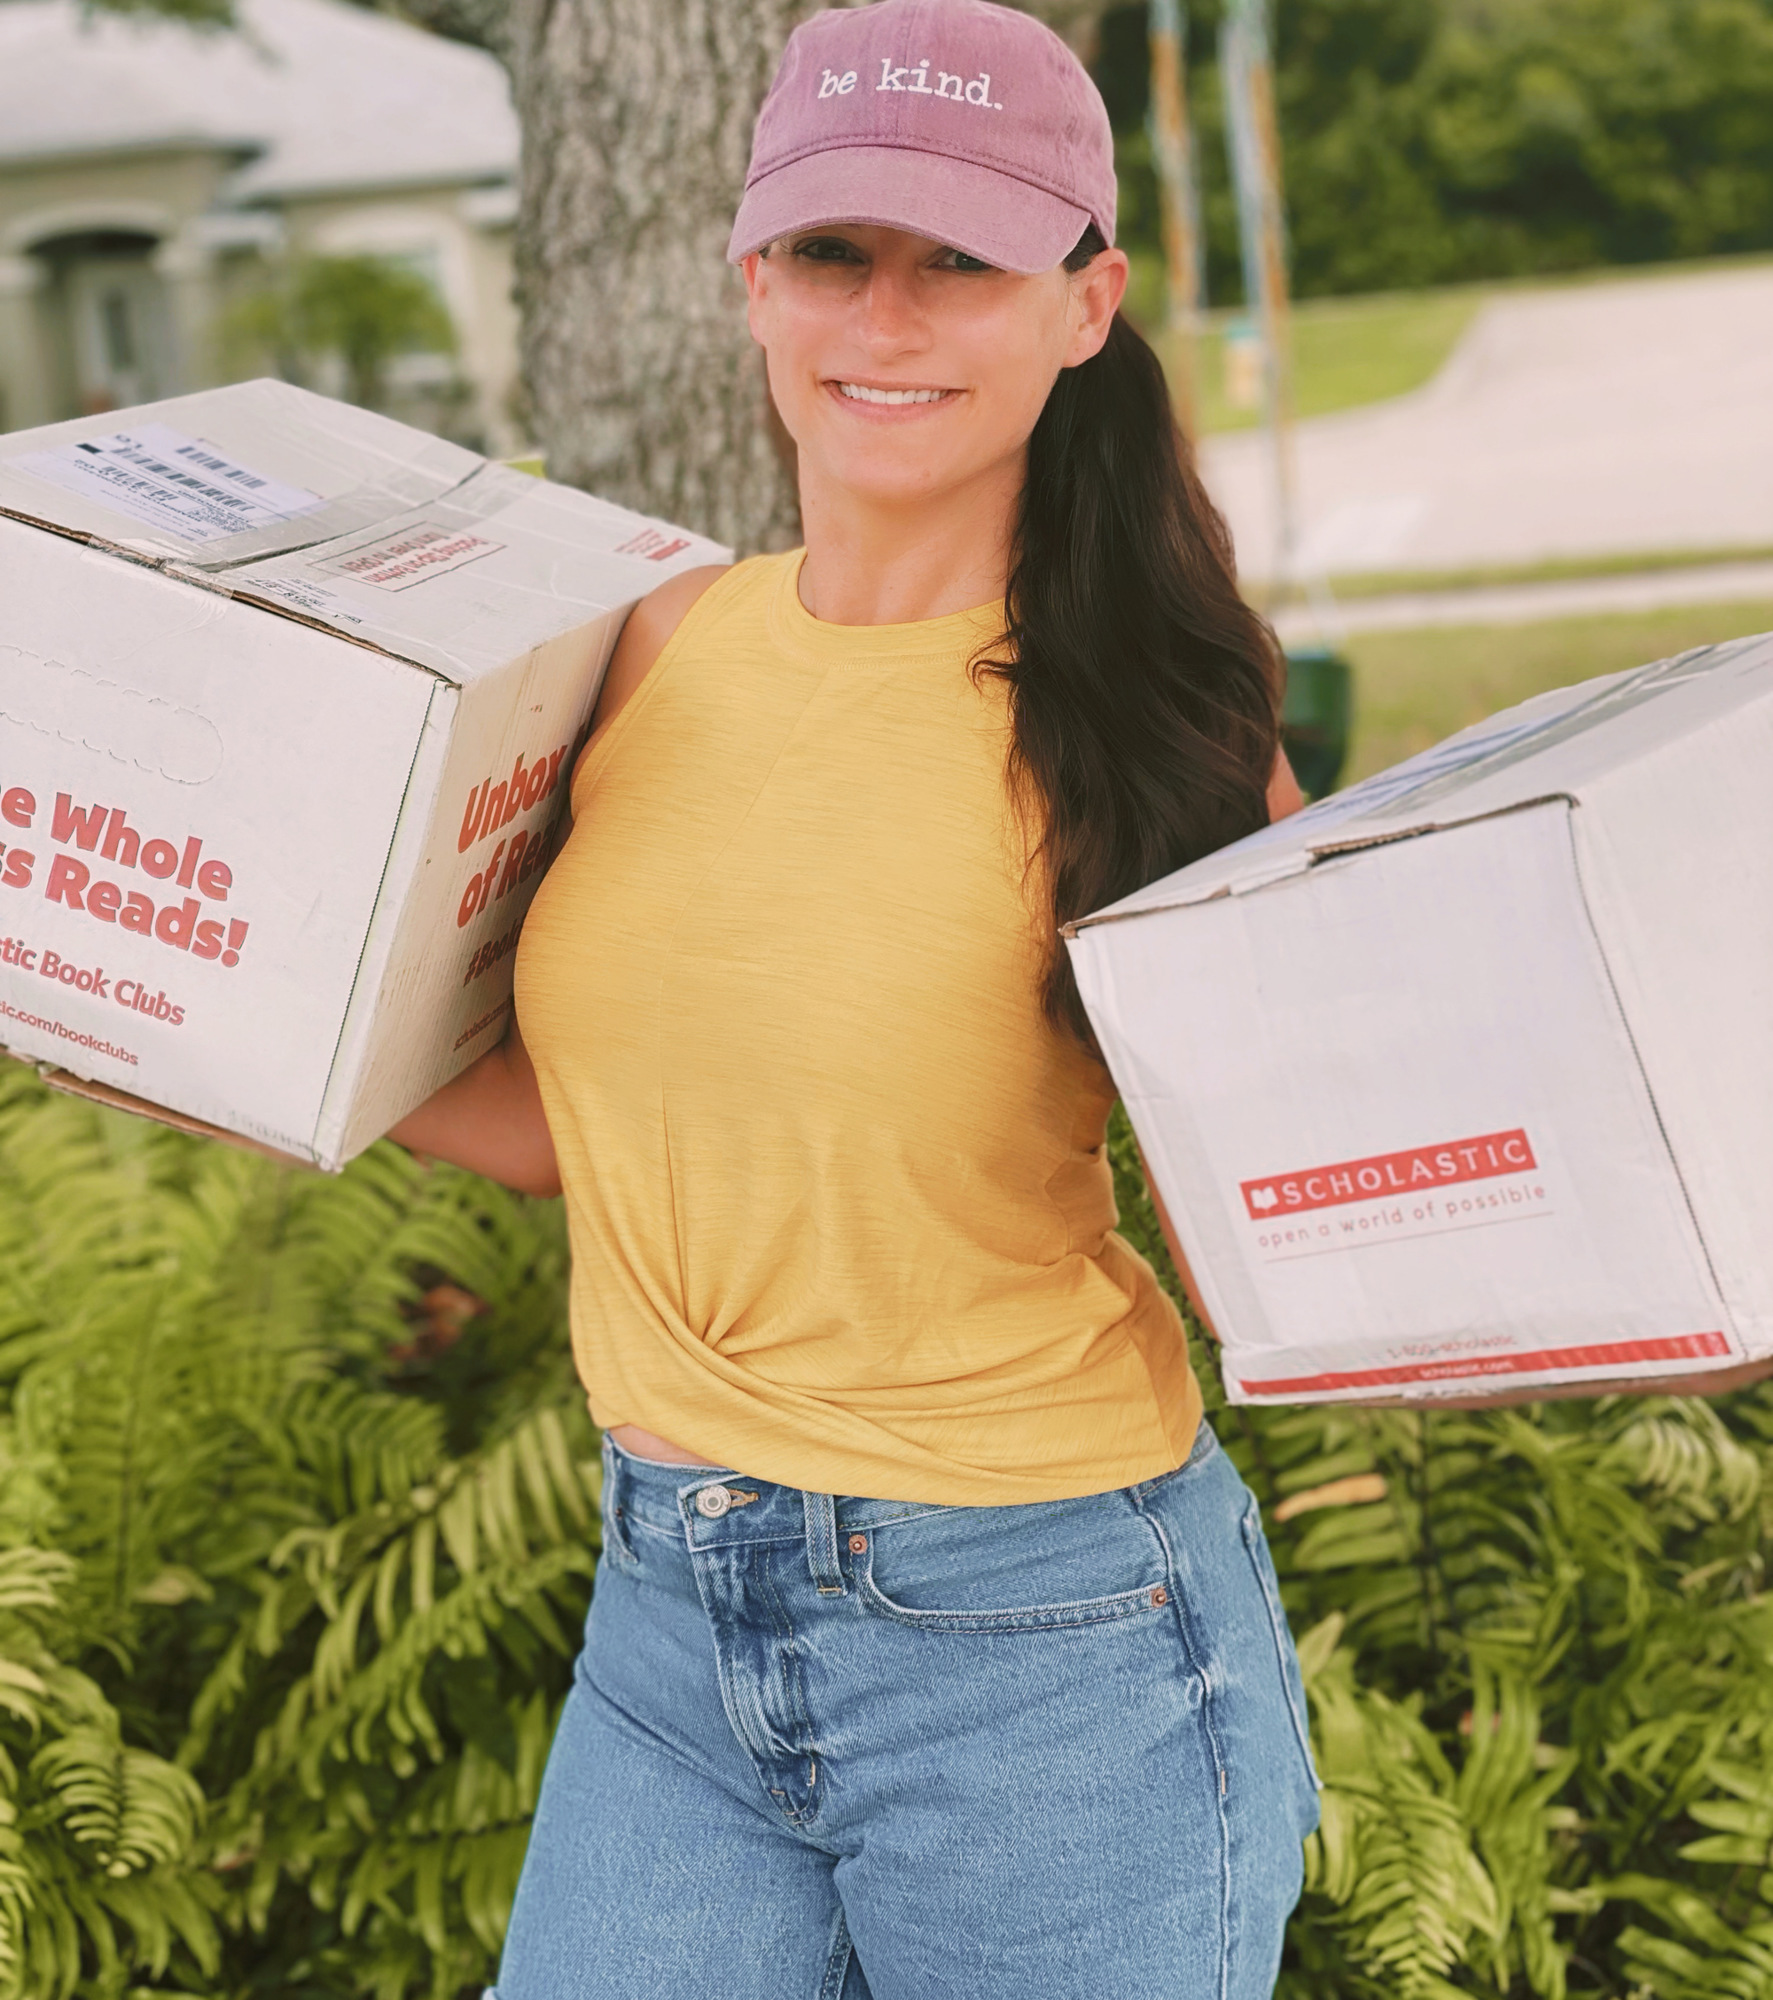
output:
M1773 1396L1249 1410L1195 1358L1325 1780L1285 2000L1773 1996Z

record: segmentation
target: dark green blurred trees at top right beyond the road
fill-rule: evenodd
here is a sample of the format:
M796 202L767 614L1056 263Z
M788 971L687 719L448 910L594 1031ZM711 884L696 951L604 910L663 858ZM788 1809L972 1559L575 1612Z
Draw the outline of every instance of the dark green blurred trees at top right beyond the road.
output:
M1271 0L1301 296L1773 248L1773 0ZM1215 302L1241 298L1215 44L1189 64ZM1123 240L1157 248L1145 8L1103 16Z

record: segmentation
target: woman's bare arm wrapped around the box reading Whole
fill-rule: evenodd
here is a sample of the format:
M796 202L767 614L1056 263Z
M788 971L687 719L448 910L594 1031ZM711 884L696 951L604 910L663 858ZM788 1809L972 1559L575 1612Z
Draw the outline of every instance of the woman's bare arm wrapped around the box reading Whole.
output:
M634 698L664 642L682 624L684 612L720 574L720 564L684 570L634 606L598 690L590 716L590 742L596 742ZM466 1166L474 1174L516 1188L518 1194L560 1192L560 1168L542 1112L536 1066L522 1046L514 1012L504 1040L408 1112L388 1138L434 1160Z

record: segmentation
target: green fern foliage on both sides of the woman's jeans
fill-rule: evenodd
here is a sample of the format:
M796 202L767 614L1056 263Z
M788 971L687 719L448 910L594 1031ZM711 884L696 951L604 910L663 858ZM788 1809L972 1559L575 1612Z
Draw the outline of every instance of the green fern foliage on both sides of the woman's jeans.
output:
M556 1204L0 1072L0 1996L478 1990L596 1552L562 1278ZM1767 1394L1247 1412L1199 1366L1327 1782L1287 2000L1773 1992Z

